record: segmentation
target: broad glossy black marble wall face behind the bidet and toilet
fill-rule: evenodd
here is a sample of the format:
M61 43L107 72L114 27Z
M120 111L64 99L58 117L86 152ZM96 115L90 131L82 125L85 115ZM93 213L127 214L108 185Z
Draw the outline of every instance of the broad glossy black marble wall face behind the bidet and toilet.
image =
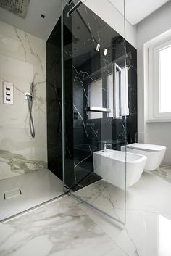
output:
M68 176L66 180L70 180L69 176L74 176L75 184L78 184L93 173L93 152L103 149L101 141L107 141L112 145L112 149L117 150L125 144L126 139L135 141L137 129L136 50L86 5L81 4L79 15L74 12L70 17L67 17L68 8L66 5L63 16L64 33L66 33L64 38L67 37L67 41L64 41L64 98L67 99L64 102L67 123L65 125L66 143L69 141L69 147L66 148L66 162L70 162L70 165L65 165L65 177ZM83 19L81 20L80 17ZM78 22L83 23L80 26L82 33L78 31ZM52 38L55 33L57 33L56 28L52 31ZM96 51L97 44L100 44L99 51ZM104 56L104 49L107 49L106 56ZM127 118L113 118L112 113L108 115L105 112L86 111L86 108L91 106L108 106L107 78L112 74L113 63L117 63L121 68L125 67L125 64L128 67L130 115ZM98 96L101 94L97 98L99 102L98 100L93 102L92 92ZM94 98L96 98L95 95ZM128 123L127 131L125 130L126 123ZM69 154L69 151L72 153ZM70 187L70 184L67 183L67 186Z

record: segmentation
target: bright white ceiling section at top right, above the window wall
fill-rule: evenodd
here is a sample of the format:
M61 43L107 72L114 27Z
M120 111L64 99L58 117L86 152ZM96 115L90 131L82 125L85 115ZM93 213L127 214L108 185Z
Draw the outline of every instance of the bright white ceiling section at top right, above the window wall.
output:
M109 0L123 14L123 0ZM169 0L125 0L126 19L136 25Z

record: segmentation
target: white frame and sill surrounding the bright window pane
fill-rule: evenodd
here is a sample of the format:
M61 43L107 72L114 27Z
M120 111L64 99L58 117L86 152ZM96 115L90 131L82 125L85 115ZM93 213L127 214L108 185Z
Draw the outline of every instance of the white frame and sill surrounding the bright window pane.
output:
M171 112L159 112L159 50L171 46L170 38L149 46L149 120L171 119Z

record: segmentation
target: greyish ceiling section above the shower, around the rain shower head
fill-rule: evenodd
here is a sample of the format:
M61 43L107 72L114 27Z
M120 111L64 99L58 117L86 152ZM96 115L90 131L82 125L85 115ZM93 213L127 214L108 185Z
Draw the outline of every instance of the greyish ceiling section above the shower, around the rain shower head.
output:
M45 19L41 18L45 15ZM61 0L30 0L25 19L0 7L0 20L47 40L61 15Z

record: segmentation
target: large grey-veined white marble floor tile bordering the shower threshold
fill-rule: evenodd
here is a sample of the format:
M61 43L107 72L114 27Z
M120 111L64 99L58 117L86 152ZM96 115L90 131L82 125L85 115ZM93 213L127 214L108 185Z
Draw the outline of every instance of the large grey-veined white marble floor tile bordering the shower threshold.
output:
M125 256L125 252L64 196L0 225L1 256Z

